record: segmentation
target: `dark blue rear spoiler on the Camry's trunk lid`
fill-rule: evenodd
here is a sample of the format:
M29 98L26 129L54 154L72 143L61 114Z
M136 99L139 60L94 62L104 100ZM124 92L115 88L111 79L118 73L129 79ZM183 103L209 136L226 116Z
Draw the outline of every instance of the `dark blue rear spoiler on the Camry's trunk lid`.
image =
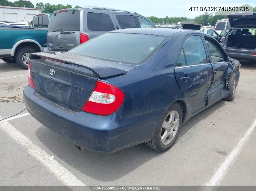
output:
M65 62L66 64L77 65L80 67L87 68L96 76L96 78L108 78L111 76L116 76L127 72L125 70L121 70L107 65L87 62L83 61L82 59L73 59L68 57L65 53L61 53L58 55L49 53L28 53L28 55L29 59L31 60L44 58L54 60L56 62Z

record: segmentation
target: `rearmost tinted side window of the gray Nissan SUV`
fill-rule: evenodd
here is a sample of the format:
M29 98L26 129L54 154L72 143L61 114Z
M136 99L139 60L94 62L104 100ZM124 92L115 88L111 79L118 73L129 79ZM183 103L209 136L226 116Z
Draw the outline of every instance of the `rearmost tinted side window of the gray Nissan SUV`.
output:
M104 13L87 13L87 27L96 31L115 30L110 16Z

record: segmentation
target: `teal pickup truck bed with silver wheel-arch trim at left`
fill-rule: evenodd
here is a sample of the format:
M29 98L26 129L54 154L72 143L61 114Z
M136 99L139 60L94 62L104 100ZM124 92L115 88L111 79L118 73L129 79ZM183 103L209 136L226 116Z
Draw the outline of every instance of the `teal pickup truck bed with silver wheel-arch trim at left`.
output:
M0 29L0 58L28 69L28 53L47 46L47 29Z

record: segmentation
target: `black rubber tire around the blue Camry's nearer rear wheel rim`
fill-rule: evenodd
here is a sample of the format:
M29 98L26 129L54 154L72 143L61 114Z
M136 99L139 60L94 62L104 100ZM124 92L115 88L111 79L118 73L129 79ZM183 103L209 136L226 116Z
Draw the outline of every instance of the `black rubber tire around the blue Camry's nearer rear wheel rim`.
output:
M164 145L161 142L162 125L163 125L163 122L165 121L166 117L168 117L168 114L171 111L177 111L178 112L178 114L179 114L179 126L178 126L177 132L176 132L174 138L172 139L172 141L168 145ZM150 141L145 142L147 147L151 148L151 149L153 149L157 152L165 152L168 149L170 149L171 146L175 143L175 141L176 141L176 139L179 135L179 132L180 132L180 129L181 129L181 124L182 124L182 117L183 117L183 113L182 113L182 109L181 109L180 104L178 104L177 102L173 103L171 105L171 107L165 112L162 119L160 120L160 122L158 124L158 127L156 128L156 131L153 135L153 138Z

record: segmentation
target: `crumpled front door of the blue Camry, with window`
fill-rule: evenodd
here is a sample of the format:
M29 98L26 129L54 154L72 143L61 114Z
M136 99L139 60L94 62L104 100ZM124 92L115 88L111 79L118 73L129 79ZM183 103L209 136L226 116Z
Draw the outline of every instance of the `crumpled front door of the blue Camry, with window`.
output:
M227 55L218 42L207 36L204 36L204 39L213 68L213 82L209 94L209 104L211 105L229 94L226 78L228 73L232 72L233 66L231 62L226 61Z

